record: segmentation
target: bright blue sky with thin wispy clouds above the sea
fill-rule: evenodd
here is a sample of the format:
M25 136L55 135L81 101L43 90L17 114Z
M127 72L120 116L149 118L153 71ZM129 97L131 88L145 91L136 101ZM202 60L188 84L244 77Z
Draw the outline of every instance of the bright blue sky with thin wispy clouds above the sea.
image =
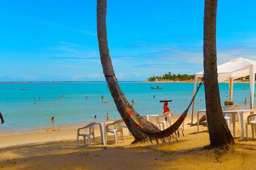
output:
M256 60L256 1L219 0L218 64ZM108 45L119 80L203 70L203 0L108 0ZM0 81L105 80L96 0L1 0Z

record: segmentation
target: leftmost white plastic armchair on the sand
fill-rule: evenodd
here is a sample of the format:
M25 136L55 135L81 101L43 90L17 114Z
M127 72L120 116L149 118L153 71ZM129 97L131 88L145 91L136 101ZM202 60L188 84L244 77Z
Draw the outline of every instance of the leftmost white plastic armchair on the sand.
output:
M93 136L93 141L94 141L94 145L95 145L95 138L94 138L94 128L95 128L95 124L96 122L92 122L84 127L81 127L77 130L77 146L79 146L79 136L83 136L84 137L84 145L86 146L86 139L85 137L88 138L89 141L89 146L91 147L91 138L90 136ZM80 130L84 129L84 133L80 133ZM89 132L87 132L87 129L89 129Z

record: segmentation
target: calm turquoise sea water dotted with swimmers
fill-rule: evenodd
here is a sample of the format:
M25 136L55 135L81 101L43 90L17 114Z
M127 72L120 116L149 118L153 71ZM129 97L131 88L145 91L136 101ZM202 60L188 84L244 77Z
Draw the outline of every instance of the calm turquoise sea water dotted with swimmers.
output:
M150 88L157 85L163 89ZM134 99L134 108L141 115L163 113L160 99L172 99L173 102L169 103L170 110L174 114L180 114L192 98L189 92L192 92L193 83L120 82L120 87L129 101ZM229 98L228 83L220 83L219 87L221 103L224 103ZM27 90L21 90L22 88ZM248 91L243 91L243 88ZM234 83L235 105L244 105L246 97L247 108L249 107L249 89L249 83ZM64 97L60 99L62 94ZM110 114L111 119L119 119L115 104L102 104L102 95L104 101L113 100L106 82L0 84L0 111L5 119L5 123L0 125L0 133L86 124L95 121L94 115L97 115L96 121L102 121L105 120L106 113ZM155 99L153 95L156 96ZM195 110L205 109L204 86L195 101ZM55 117L54 123L50 121L52 116Z

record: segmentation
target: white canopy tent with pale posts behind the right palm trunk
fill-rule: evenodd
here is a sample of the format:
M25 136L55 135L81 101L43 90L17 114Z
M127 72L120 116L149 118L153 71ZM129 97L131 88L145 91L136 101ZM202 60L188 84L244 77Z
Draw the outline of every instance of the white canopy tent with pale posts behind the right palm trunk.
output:
M227 63L217 66L218 69L218 82L229 81L229 92L230 92L230 102L233 98L233 80L250 76L250 109L253 109L253 95L254 95L254 83L255 83L255 73L256 73L256 61L244 58L232 59ZM193 88L193 96L195 94L195 89L197 85L197 79L203 77L204 72L199 72L195 74L195 82ZM194 101L195 102L195 101ZM191 116L194 113L194 102L192 104ZM193 117L192 117L193 119Z

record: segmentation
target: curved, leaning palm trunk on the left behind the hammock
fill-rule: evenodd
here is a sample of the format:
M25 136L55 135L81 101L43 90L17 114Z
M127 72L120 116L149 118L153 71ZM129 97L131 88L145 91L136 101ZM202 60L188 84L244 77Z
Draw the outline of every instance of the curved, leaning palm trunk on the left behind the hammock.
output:
M107 0L97 0L97 37L99 42L99 54L102 63L103 74L105 75L108 88L111 92L113 100L116 104L116 108L119 111L122 119L127 125L128 129L131 131L135 138L135 141L145 141L148 139L144 133L137 129L137 127L130 122L130 119L125 111L125 108L129 108L134 116L139 120L139 122L148 130L158 131L158 127L147 122L143 117L141 117L134 108L130 105L126 99L124 93L121 91L119 84L117 82L113 65L111 62L111 57L108 49L107 40L107 28L106 28L106 11L107 11Z

